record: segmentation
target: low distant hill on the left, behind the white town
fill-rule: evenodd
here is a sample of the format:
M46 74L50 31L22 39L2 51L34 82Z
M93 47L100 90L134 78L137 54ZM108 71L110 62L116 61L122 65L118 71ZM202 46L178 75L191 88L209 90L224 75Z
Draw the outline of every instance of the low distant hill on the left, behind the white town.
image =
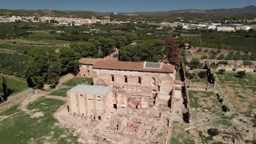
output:
M59 11L59 10L8 10L0 9L0 16L56 16L91 18L95 13L89 11Z

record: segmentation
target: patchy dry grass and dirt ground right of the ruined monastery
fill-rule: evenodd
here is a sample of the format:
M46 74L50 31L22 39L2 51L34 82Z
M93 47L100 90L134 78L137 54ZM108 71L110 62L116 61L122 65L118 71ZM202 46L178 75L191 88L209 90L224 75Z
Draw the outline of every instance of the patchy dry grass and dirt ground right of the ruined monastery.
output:
M216 82L223 91L224 104L231 110L221 111L215 95L217 89L216 92L189 91L190 123L173 124L171 143L256 142L256 75L248 73L240 78L236 73L217 74ZM210 128L217 128L219 135L211 137Z

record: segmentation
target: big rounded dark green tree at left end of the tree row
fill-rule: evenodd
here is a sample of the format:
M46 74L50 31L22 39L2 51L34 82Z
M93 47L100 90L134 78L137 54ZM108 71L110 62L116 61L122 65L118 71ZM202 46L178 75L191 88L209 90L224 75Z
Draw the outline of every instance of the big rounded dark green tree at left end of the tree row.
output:
M27 80L31 80L34 88L42 88L45 83L55 86L59 81L60 73L61 64L53 48L36 47L30 52L25 75Z

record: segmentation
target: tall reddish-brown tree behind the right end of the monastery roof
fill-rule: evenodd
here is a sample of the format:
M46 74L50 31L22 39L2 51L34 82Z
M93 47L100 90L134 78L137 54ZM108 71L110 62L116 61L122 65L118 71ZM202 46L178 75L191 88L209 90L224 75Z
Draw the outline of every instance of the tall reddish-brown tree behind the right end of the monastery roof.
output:
M168 61L173 65L179 65L181 63L179 58L179 45L176 44L175 39L165 38L165 54Z

